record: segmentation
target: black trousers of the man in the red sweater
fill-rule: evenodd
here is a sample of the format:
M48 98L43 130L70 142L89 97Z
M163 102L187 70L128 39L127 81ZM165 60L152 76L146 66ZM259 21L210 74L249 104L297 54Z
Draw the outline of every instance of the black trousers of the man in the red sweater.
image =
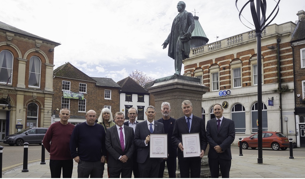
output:
M60 178L61 169L63 169L63 178L71 178L73 171L73 159L50 160L51 178Z

